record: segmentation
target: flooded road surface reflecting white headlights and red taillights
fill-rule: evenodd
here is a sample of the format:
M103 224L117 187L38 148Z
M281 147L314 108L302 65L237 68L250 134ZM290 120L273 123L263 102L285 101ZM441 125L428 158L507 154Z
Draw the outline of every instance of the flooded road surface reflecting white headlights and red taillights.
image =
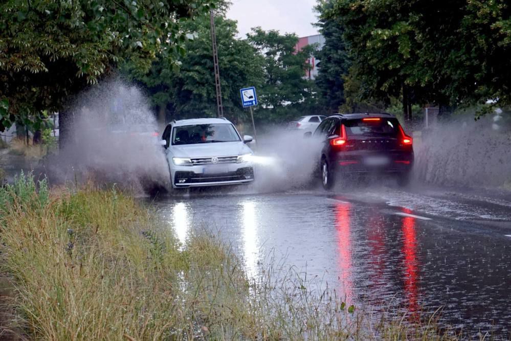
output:
M192 192L154 204L184 243L193 230L219 232L250 276L284 263L349 304L441 307L443 321L465 332L509 337L509 198L368 186Z

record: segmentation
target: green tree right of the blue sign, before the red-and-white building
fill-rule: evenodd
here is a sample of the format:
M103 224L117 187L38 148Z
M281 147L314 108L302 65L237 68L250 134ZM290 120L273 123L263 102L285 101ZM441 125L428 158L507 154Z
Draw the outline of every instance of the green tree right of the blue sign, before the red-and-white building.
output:
M316 87L305 78L308 70L306 60L316 47L307 46L296 50L295 34L281 35L278 31L252 29L249 41L264 56L264 83L258 92L260 106L266 120L284 122L297 115L304 115L304 107L314 108ZM312 102L312 104L311 104Z

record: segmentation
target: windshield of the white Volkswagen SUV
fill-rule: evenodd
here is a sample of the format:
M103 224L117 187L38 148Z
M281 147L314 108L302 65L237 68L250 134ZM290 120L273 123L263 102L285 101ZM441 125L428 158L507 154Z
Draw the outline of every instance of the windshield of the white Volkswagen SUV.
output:
M173 145L241 141L232 124L199 124L175 127L172 132Z

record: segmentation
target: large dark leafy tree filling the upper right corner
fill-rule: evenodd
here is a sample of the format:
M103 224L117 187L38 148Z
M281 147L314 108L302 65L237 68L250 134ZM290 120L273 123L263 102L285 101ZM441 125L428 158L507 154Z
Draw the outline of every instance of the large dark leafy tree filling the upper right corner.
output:
M353 61L347 83L388 103L472 105L511 100L511 9L504 0L336 0ZM352 86L354 87L354 86Z

